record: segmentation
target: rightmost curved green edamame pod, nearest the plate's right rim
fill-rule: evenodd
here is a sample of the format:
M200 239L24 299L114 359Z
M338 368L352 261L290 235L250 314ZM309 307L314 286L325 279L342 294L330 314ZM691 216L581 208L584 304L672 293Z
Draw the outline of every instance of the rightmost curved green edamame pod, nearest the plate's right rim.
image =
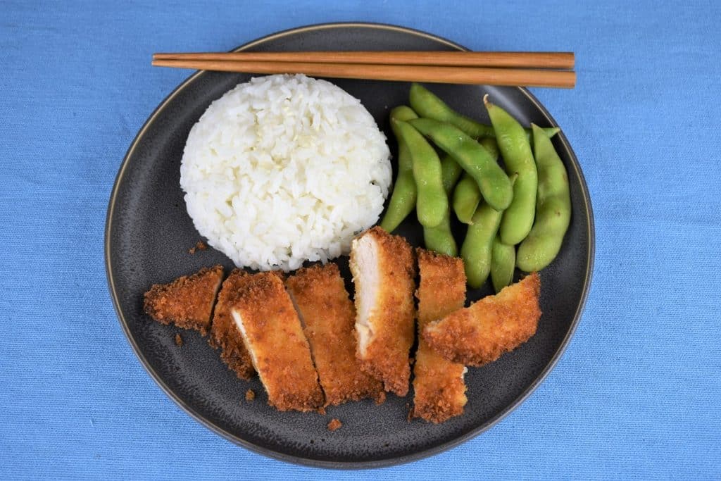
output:
M539 172L538 203L533 229L518 246L518 268L541 270L558 255L571 221L571 194L568 174L553 148L551 139L536 125L534 151Z

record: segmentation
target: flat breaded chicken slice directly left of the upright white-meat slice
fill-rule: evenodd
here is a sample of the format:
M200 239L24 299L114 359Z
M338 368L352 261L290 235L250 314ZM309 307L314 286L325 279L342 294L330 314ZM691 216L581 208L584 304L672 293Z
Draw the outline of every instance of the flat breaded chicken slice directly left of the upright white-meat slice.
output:
M286 280L310 344L326 405L383 394L380 381L360 369L355 358L355 309L338 266L303 268Z

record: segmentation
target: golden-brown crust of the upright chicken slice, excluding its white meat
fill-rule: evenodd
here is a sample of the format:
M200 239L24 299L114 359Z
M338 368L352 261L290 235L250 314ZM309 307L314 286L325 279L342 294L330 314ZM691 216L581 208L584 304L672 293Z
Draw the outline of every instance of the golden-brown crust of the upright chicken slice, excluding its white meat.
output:
M376 243L380 288L368 322L373 326L371 340L365 353L356 351L361 367L371 376L381 379L384 389L398 396L408 393L410 380L409 351L414 339L415 258L405 239L388 234L375 226L354 239L350 252L350 270L355 281L355 306L360 309L358 279L364 273L355 259L358 239L370 236Z

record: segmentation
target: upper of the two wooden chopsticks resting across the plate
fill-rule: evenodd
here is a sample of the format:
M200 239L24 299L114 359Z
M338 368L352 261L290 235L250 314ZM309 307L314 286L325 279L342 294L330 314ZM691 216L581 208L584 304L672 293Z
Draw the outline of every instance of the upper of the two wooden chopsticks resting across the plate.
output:
M156 53L153 60L270 61L312 63L377 63L379 65L435 65L467 67L518 67L525 69L572 69L571 52L229 52Z

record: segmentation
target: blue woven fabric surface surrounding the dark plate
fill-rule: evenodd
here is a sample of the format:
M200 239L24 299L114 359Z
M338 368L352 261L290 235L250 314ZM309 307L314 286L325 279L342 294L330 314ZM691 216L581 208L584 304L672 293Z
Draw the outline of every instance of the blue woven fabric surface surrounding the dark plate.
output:
M721 8L585 3L0 1L0 477L721 477ZM474 440L370 472L266 459L192 420L125 341L103 264L125 150L189 75L151 53L349 20L574 51L578 86L534 94L596 214L588 304L544 384Z

